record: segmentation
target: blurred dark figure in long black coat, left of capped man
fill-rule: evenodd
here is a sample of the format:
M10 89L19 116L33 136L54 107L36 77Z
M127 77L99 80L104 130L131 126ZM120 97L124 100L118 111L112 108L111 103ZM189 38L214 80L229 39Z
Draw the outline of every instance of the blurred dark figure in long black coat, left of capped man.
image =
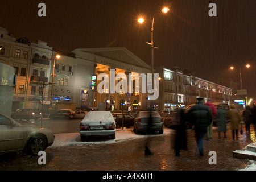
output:
M187 150L187 135L185 125L185 113L184 109L178 110L177 119L180 119L180 125L176 126L175 137L175 155L180 156L180 150Z

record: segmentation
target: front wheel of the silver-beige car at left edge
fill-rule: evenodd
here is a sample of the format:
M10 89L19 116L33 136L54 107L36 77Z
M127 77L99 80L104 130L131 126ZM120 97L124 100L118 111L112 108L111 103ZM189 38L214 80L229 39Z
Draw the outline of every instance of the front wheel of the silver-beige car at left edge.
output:
M39 151L46 150L46 138L43 136L32 137L27 143L27 152L30 155L38 155Z

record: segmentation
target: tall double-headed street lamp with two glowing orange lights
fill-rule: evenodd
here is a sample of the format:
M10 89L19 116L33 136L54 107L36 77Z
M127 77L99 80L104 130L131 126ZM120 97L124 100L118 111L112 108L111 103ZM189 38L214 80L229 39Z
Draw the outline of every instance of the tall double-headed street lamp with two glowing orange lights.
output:
M162 9L162 13L168 13L170 9L168 7L164 7ZM143 18L139 18L138 22L139 23L143 23L145 20ZM151 18L150 17L150 31L151 31L151 42L146 42L149 46L151 46L151 55L150 55L150 59L151 59L151 74L152 74L152 86L154 85L154 49L157 48L154 46L154 16ZM150 100L150 110L154 109L154 100Z

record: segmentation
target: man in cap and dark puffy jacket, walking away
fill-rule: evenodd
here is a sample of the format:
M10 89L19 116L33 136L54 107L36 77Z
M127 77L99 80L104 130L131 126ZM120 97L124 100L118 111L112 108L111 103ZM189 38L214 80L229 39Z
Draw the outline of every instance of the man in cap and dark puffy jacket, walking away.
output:
M200 156L204 155L203 137L207 133L207 127L212 122L212 111L203 105L203 98L197 98L197 104L188 111L188 119L195 126L196 141Z

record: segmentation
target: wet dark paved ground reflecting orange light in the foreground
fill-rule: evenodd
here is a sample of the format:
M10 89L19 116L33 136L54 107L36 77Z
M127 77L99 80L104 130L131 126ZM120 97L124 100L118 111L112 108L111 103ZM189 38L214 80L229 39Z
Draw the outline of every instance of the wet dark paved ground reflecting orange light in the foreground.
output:
M170 129L166 129L170 130ZM217 128L213 139L204 139L204 156L197 151L193 130L187 130L188 150L176 157L171 143L173 133L150 135L150 137L122 140L108 144L69 144L49 147L46 150L46 165L38 164L39 156L22 152L0 155L0 170L26 171L238 171L256 165L255 161L233 158L232 152L247 144L256 142L256 133L240 134L232 139L231 131L227 138L218 139ZM154 155L144 155L144 145L149 143ZM217 164L209 164L210 151L216 152Z

